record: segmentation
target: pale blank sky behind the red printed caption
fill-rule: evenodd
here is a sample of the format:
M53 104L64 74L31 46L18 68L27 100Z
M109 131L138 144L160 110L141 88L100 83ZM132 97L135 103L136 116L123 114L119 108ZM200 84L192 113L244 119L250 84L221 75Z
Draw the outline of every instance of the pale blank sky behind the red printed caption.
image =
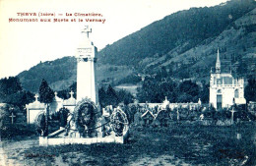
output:
M0 79L17 76L39 62L74 56L85 26L93 29L90 38L100 50L177 11L215 6L225 1L0 0ZM25 13L32 16L22 16ZM99 16L75 16L78 14ZM38 22L10 22L10 19L37 19ZM40 19L51 22L40 22ZM54 23L54 19L69 22ZM86 19L101 22L86 22ZM81 20L83 22L79 22Z

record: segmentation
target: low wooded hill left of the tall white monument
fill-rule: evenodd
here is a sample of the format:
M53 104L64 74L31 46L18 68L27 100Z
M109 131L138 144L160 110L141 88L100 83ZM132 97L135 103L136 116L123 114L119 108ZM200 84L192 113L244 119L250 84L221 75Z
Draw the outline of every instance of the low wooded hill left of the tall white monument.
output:
M29 71L18 75L25 89L37 92L42 79L54 89L66 88L76 80L77 63L74 57L64 57L55 61L39 63ZM56 85L55 85L56 84Z

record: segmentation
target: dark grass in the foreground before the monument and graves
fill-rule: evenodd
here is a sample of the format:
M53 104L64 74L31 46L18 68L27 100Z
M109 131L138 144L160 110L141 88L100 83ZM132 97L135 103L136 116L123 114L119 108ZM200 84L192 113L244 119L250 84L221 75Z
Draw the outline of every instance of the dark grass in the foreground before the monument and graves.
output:
M132 162L148 159L158 160L155 165L189 163L192 165L239 165L248 157L246 164L255 162L255 124L239 126L201 126L172 124L169 128L131 127L130 138L125 144L100 143L91 145L34 146L20 152L37 154L38 157L25 157L33 164L52 165L129 165ZM241 139L236 134L241 134ZM42 157L43 156L43 157ZM171 158L172 157L172 158ZM61 164L60 164L61 165Z

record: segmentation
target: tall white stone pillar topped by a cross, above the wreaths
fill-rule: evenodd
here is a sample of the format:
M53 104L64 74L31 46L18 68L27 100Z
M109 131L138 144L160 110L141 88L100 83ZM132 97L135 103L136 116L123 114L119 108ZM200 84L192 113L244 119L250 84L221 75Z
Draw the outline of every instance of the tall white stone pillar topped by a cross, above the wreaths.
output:
M96 104L98 94L96 87L96 54L97 49L89 38L92 28L86 26L82 30L83 40L77 48L77 101L90 98Z

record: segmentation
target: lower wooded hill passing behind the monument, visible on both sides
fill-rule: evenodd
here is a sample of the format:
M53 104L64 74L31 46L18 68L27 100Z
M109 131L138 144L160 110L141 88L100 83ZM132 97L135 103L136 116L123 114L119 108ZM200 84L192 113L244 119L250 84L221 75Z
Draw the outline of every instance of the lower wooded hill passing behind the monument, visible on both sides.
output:
M133 73L126 66L96 64L97 81L115 82ZM54 61L46 61L18 75L22 86L32 92L38 92L39 85L44 79L54 90L68 88L77 82L77 60L75 57L64 57Z

